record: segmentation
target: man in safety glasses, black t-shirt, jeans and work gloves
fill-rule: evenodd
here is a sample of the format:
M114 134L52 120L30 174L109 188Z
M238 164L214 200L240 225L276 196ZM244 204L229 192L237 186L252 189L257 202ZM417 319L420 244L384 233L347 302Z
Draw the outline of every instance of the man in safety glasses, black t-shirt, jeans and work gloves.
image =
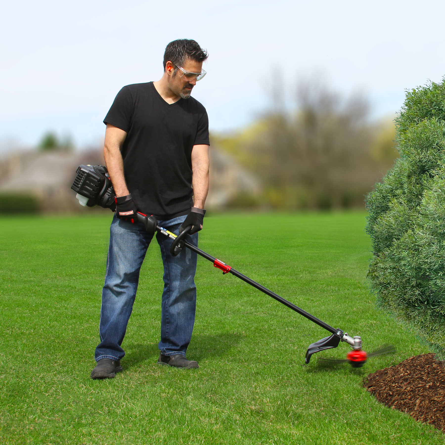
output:
M206 109L190 93L205 75L207 53L194 40L174 40L164 54L157 82L127 85L117 94L104 123L105 163L116 193L116 213L102 290L100 344L91 378L122 371L121 348L139 271L153 234L136 212L154 214L162 227L179 234L192 226L188 241L198 245L209 184ZM172 240L157 234L164 264L158 364L198 368L186 359L193 330L197 255L183 249L170 255Z

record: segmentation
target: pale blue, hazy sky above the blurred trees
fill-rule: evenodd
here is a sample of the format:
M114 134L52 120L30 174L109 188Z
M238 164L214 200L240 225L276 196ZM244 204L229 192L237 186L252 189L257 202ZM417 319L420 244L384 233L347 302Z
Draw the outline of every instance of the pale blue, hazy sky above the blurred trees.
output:
M289 94L313 75L341 93L361 91L375 117L393 116L405 89L445 75L439 1L43 0L9 2L0 13L0 152L48 130L78 147L99 143L117 91L158 80L176 38L209 52L193 95L216 131L241 128L267 107L273 72Z

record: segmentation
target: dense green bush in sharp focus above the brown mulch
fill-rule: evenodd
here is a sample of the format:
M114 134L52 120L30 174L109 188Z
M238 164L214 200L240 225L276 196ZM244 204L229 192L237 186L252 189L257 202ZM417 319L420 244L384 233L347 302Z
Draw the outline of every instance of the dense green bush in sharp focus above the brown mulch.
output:
M400 158L367 196L377 304L445 359L445 78L396 119Z

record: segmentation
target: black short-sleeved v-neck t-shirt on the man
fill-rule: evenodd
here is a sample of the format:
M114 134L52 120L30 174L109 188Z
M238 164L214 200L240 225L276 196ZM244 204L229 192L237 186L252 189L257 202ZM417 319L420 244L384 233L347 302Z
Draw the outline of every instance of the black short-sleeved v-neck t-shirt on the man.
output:
M121 148L128 190L142 213L160 219L193 206L191 152L209 143L206 109L193 97L168 104L153 82L127 85L104 119L127 133Z

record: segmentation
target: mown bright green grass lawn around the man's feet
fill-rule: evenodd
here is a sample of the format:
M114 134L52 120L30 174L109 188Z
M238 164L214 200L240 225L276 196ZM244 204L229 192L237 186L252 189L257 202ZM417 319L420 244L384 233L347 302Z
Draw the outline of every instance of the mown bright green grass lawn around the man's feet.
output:
M365 283L365 214L231 214L205 219L200 247L350 335L397 353L324 367L328 335L198 258L187 357L160 367L162 262L152 243L123 348L124 371L91 380L109 215L0 219L0 443L443 444L362 387L376 369L428 352L378 312ZM344 358L349 347L319 355Z

